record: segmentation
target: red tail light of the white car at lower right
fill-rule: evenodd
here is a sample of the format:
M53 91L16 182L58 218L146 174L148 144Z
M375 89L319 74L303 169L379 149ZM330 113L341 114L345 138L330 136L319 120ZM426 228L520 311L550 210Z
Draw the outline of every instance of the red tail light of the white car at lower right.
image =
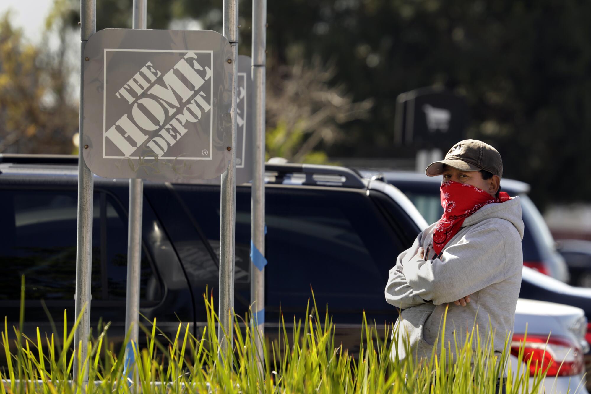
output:
M518 357L519 347L523 341L524 335L513 335L511 341L513 356ZM523 362L527 363L530 359L530 374L534 374L539 369L544 371L547 369L547 376L574 376L584 371L583 353L579 345L567 338L550 337L548 340L543 335L527 335Z

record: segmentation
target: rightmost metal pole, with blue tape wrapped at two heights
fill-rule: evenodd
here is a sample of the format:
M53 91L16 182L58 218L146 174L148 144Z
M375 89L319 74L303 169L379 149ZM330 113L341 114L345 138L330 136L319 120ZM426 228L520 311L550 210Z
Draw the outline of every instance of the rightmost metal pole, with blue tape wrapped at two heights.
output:
M265 47L267 0L252 4L252 82L254 85L254 133L252 144L251 304L258 335L256 349L262 360L265 337Z

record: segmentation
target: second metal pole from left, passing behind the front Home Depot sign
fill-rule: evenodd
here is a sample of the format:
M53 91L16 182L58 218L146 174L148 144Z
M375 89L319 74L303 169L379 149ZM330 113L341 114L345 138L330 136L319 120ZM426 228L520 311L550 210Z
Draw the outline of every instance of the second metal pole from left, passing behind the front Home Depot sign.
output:
M147 24L147 0L134 0L132 28L145 29ZM134 350L139 335L139 276L142 256L142 208L144 201L144 180L129 179L128 241L127 241L127 283L125 295L125 333L129 334L125 349L125 369L132 370ZM128 365L129 364L129 365ZM126 373L129 376L129 373ZM133 380L135 381L135 374Z

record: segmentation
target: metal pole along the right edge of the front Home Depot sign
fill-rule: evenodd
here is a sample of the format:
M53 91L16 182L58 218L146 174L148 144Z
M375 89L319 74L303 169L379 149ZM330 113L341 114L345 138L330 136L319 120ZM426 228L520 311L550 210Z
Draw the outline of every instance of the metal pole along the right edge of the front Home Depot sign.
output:
M232 53L228 63L232 64L232 109L231 119L231 158L226 172L222 174L220 199L220 325L217 336L220 351L226 353L232 347L233 324L231 312L234 306L234 248L236 225L236 76L238 73L238 0L223 1L223 35L230 42ZM226 332L224 336L223 332Z

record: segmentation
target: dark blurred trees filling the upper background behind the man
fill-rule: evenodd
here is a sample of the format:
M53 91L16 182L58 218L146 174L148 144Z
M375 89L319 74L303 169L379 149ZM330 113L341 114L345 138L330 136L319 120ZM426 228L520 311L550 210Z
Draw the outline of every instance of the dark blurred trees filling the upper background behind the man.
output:
M70 24L76 25L79 1L68 1ZM131 27L131 4L99 1L98 28ZM342 138L320 141L314 151L413 157L413 150L393 146L396 96L443 85L469 102L467 136L498 147L505 176L530 182L537 204L589 200L591 183L582 180L591 166L586 152L591 2L282 0L267 5L269 81L281 75L281 67L310 65L318 56L321 64L335 64L327 86L346 83L352 102L375 100L368 117L340 124ZM173 20L173 27L194 27L191 21L198 21L201 28L221 31L221 10L222 0L149 0L148 27L168 28ZM242 54L250 54L251 10L250 1L240 1ZM561 192L566 188L569 193Z

